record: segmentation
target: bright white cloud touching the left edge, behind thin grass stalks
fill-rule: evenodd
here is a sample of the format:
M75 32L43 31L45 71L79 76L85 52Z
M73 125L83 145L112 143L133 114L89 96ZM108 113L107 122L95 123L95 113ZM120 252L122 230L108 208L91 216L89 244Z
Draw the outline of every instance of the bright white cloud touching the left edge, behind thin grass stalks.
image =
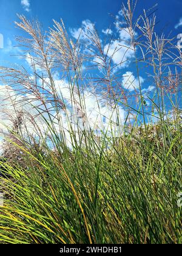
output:
M20 96L12 87L0 85L0 137L2 134L8 133L8 128L13 127L13 121L15 121L18 112L24 113L24 127L22 127L24 136L27 135L27 132L36 135L36 127L32 124L33 116L35 117L35 124L44 133L46 129L44 119L38 115L38 111L33 107L40 104L40 101L33 99L33 95ZM50 105L47 105L47 107L50 107ZM44 117L46 116L44 115Z

